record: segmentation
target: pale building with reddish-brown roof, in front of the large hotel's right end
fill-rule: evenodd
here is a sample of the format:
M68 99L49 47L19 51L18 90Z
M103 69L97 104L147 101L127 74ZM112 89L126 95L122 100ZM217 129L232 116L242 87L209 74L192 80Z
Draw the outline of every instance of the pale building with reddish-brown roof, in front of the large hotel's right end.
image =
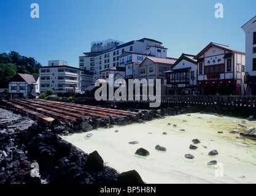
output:
M149 57L144 59L139 66L139 79L146 79L149 82L149 79L153 79L154 86L156 84L156 80L161 80L161 95L166 95L166 74L165 72L171 70L176 59L169 58L155 58Z

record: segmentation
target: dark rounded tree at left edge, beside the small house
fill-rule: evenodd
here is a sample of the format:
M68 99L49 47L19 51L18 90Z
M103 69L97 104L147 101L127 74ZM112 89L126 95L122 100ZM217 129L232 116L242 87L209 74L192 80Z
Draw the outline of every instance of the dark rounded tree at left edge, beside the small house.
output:
M0 62L0 86L1 88L7 88L10 79L17 74L17 67L11 63Z

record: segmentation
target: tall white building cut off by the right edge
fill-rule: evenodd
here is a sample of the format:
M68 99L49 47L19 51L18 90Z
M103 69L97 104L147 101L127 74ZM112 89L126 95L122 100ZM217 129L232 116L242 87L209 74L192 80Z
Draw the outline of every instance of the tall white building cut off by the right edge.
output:
M246 94L256 95L256 16L242 29L246 33Z

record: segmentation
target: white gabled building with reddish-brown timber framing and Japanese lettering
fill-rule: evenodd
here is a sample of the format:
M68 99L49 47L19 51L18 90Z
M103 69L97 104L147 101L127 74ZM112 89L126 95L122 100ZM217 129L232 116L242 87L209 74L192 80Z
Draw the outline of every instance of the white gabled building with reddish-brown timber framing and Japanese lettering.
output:
M195 59L200 94L245 94L246 55L243 51L211 42Z

